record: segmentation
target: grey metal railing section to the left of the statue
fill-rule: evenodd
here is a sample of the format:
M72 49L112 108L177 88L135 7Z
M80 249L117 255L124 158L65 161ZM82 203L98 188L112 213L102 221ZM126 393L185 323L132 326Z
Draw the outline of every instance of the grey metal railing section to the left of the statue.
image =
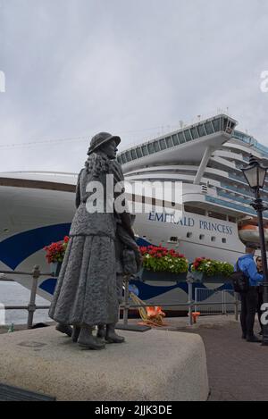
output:
M30 296L29 296L29 304L28 306L4 306L5 310L27 310L28 311L28 320L27 320L27 328L31 329L33 325L33 318L36 310L45 310L49 309L50 306L37 306L36 305L36 298L37 298L37 290L38 290L38 279L41 276L49 276L54 277L54 273L51 272L40 272L39 266L35 265L31 272L20 272L20 271L0 271L0 273L5 275L27 275L32 277L31 289L30 289ZM4 280L5 281L5 280Z

